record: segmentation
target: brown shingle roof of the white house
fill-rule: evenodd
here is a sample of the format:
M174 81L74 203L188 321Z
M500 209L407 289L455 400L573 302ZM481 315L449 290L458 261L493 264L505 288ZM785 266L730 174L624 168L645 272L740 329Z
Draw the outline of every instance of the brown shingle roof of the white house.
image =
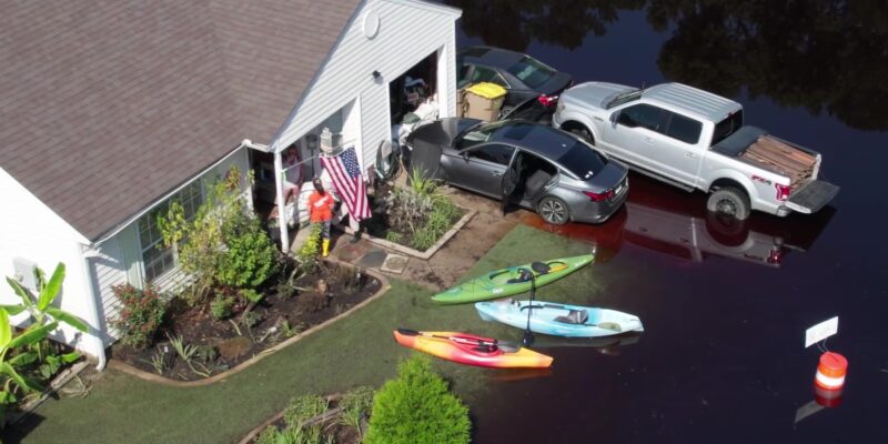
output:
M0 168L97 240L269 143L360 2L7 1Z

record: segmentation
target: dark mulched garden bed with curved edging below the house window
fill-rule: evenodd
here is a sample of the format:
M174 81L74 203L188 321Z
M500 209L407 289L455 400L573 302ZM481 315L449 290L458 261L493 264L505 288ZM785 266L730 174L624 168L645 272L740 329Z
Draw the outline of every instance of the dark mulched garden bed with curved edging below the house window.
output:
M293 266L289 264L282 273ZM261 302L228 320L214 319L205 305L188 307L173 300L153 346L118 343L110 357L163 379L204 380L344 313L381 289L376 278L332 262L320 263L316 272L297 278L294 284L301 290L289 297L278 292L276 282L263 285Z

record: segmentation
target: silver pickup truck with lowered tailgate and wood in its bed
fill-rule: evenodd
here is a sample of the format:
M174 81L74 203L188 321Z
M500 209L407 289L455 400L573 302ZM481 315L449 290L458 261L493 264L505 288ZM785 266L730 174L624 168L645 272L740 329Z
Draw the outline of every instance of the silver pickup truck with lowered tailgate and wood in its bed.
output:
M814 213L838 193L817 180L820 154L743 125L743 107L682 83L636 89L587 82L564 91L552 124L634 170L709 193L707 209Z

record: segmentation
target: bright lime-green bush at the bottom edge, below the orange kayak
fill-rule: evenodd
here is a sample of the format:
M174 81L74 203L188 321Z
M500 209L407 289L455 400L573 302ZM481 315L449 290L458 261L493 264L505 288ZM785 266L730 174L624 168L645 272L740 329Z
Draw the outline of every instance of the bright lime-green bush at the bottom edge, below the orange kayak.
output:
M468 443L468 408L432 371L428 357L415 354L397 373L376 393L365 443Z

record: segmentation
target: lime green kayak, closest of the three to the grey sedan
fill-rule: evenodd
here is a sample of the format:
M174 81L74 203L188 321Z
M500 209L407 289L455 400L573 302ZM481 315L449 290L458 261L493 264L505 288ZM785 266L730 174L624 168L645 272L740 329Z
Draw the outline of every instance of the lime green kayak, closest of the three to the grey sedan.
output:
M438 304L465 304L528 292L532 284L531 275L535 276L538 289L575 272L592 262L594 258L592 254L585 254L492 271L435 294L432 301Z

